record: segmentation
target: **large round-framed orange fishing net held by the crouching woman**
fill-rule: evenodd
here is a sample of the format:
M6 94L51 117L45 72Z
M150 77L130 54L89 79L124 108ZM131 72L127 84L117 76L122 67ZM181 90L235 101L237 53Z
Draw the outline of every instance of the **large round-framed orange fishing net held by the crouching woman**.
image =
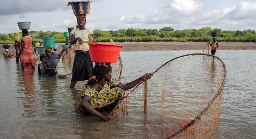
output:
M127 93L108 118L123 116L134 132L141 130L148 138L214 138L225 80L220 58L180 56Z

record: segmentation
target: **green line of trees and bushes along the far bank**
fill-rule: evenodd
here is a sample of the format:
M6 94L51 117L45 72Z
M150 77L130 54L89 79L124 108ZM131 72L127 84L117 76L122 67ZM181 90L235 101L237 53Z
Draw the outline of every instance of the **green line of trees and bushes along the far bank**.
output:
M184 29L175 30L172 27L164 27L161 29L139 29L128 28L119 30L103 31L99 29L93 30L94 36L98 42L109 42L111 38L116 42L151 42L151 41L195 41L207 42L212 39L211 32L217 31L219 42L256 42L255 30L221 30L219 28L202 27L200 29ZM13 32L9 34L0 33L0 43L14 43L11 35L21 34L21 32ZM43 36L55 37L56 43L64 43L65 37L62 32L56 31L29 31L34 40L43 42Z

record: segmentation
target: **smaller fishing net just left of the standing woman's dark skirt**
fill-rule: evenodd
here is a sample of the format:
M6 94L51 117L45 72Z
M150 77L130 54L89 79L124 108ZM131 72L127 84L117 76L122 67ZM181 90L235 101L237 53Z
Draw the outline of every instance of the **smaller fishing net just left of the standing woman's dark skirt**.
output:
M73 46L64 51L62 57L57 61L56 69L59 76L67 76L72 74L75 52Z

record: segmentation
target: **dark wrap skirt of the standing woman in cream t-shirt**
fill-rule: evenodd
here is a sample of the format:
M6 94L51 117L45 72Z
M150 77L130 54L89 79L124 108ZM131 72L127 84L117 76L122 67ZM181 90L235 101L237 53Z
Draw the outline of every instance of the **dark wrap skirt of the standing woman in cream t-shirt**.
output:
M92 75L92 61L89 51L75 53L71 81L88 80Z

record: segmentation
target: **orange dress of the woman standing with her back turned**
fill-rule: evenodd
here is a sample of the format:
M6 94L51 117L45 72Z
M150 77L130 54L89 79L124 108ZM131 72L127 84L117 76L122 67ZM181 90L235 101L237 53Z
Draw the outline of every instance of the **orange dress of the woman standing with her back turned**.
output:
M25 63L34 63L33 53L31 44L33 42L32 37L26 36L23 38L23 50L21 52L21 62Z

